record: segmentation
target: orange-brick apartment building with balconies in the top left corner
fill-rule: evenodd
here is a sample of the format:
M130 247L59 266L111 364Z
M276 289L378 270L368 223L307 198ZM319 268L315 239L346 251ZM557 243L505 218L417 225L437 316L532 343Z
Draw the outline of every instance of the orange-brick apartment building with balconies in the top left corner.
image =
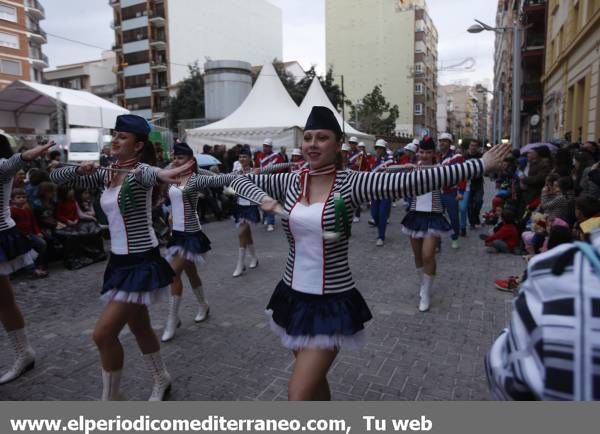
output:
M0 1L0 88L15 80L42 81L48 57L47 42L40 27L45 18L38 0Z

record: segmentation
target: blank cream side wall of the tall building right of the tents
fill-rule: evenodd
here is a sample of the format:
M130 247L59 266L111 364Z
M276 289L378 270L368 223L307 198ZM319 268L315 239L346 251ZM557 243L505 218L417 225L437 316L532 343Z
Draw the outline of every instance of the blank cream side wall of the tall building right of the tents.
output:
M382 85L397 104L398 130L413 130L415 13L393 0L326 0L326 61L344 75L347 97L356 101Z

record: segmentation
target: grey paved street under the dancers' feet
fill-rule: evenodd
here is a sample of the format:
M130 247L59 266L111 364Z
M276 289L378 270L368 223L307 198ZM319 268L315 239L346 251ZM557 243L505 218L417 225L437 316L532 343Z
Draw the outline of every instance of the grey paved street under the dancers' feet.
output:
M489 203L489 201L486 201ZM394 208L388 239L375 246L375 230L363 213L354 225L351 266L371 307L369 344L342 352L330 372L336 400L488 399L483 357L504 327L510 296L494 289L497 276L520 273L513 255L488 255L478 233L451 251L446 241L439 258L431 311L419 313L417 278L408 239L400 233L402 208ZM162 347L173 376L176 400L286 399L291 354L271 333L263 309L281 277L287 243L281 227L254 229L260 266L231 277L237 254L233 222L204 227L213 241L209 264L201 270L211 316L194 323L196 305L184 294L183 326ZM101 310L98 292L104 264L79 271L58 268L51 277L17 281L17 298L37 351L36 369L6 386L3 400L93 400L100 396L98 353L91 339ZM187 284L187 282L186 282ZM167 305L152 309L157 333ZM160 334L159 334L160 336ZM123 390L143 400L151 383L132 335L122 335L126 361ZM0 369L12 361L6 335L0 335Z

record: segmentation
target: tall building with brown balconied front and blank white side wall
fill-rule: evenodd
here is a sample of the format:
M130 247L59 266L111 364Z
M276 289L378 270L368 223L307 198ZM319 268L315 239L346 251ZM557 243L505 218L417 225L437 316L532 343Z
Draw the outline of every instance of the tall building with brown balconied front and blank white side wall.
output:
M188 65L207 59L251 64L282 58L281 10L266 0L109 0L118 103L148 119L165 116ZM226 37L225 37L226 36Z

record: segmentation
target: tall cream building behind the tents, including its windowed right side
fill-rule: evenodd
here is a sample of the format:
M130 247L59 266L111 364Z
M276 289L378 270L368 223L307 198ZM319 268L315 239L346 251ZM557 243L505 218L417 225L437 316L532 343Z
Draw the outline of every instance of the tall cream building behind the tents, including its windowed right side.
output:
M424 0L326 0L325 28L326 63L350 101L381 85L397 133L437 134L438 33Z

